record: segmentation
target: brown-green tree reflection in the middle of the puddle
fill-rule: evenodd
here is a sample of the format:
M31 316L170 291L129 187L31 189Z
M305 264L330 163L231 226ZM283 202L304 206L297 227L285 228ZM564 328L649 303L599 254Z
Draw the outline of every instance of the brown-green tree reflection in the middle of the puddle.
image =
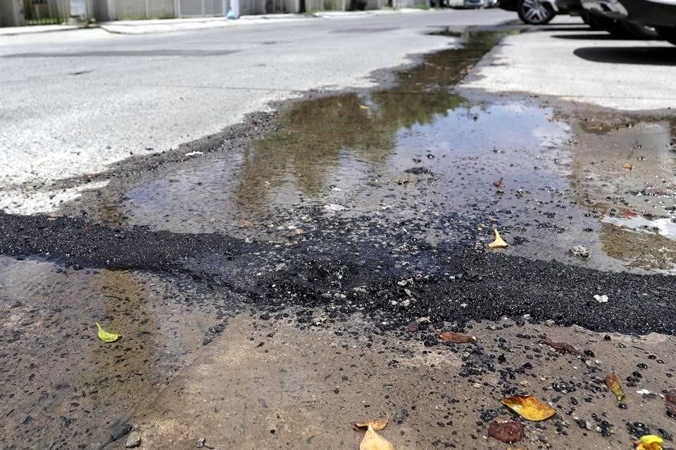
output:
M446 90L392 89L296 103L284 129L245 150L237 204L257 212L283 203L275 197L316 198L331 184L350 185L387 160L400 129L430 123L461 101Z

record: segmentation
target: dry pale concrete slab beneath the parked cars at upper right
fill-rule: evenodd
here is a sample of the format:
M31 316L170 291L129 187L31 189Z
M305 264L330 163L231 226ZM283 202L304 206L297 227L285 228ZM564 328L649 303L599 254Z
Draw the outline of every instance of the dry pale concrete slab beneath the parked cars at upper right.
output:
M606 32L548 30L503 39L463 87L556 96L617 110L676 106L676 47Z

